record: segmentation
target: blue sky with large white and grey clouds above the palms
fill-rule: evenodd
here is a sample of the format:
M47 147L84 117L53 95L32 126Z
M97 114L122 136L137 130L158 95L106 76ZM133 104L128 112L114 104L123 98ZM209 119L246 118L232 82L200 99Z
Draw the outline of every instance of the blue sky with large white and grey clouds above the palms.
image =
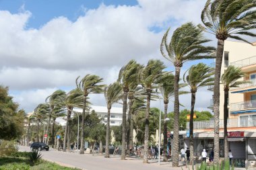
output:
M0 0L0 84L20 109L32 112L57 89L75 88L78 76L95 74L113 83L131 59L143 65L160 59L174 71L160 54L162 36L169 27L172 32L186 22L200 24L205 1ZM214 60L187 62L182 72L197 62ZM211 91L198 91L195 109L207 110L211 97ZM105 105L103 95L90 98ZM190 95L180 101L190 108Z

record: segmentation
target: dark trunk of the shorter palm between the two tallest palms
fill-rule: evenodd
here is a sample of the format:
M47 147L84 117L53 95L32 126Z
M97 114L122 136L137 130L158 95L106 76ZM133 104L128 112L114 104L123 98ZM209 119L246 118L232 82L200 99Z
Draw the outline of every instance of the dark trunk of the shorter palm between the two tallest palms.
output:
M190 148L190 165L194 165L194 108L195 108L195 92L191 91L191 110L189 120L189 148Z

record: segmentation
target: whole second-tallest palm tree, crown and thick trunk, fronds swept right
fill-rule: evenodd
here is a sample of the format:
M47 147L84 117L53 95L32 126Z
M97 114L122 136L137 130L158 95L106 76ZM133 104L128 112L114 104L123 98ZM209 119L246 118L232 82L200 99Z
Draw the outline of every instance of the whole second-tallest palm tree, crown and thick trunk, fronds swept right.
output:
M205 42L210 42L203 37L202 30L194 26L191 22L183 24L177 28L172 34L170 43L168 40L168 32L162 38L160 50L162 56L170 60L175 67L174 77L174 130L173 130L173 154L172 166L179 165L179 79L183 63L189 60L197 60L201 58L212 58L210 52L214 50L211 46L203 46ZM164 51L164 48L167 52Z

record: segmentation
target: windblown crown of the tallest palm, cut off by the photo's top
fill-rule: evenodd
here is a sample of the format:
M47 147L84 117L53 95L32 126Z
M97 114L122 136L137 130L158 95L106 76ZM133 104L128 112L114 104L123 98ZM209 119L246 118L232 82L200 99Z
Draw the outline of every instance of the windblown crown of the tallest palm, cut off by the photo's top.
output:
M249 32L256 28L256 11L251 10L253 7L256 7L255 0L208 0L201 13L201 20L219 40L234 38L248 42L241 36L256 36Z

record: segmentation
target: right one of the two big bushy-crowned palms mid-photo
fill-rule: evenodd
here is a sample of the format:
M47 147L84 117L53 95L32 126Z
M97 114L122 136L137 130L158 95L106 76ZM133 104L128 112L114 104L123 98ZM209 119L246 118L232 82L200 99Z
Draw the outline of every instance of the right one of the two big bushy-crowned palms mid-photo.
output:
M143 163L148 163L148 139L150 137L150 100L153 89L158 87L158 80L162 76L162 70L165 68L164 63L160 60L149 60L148 65L139 71L139 81L145 88L147 94L147 105L145 114L145 138Z

